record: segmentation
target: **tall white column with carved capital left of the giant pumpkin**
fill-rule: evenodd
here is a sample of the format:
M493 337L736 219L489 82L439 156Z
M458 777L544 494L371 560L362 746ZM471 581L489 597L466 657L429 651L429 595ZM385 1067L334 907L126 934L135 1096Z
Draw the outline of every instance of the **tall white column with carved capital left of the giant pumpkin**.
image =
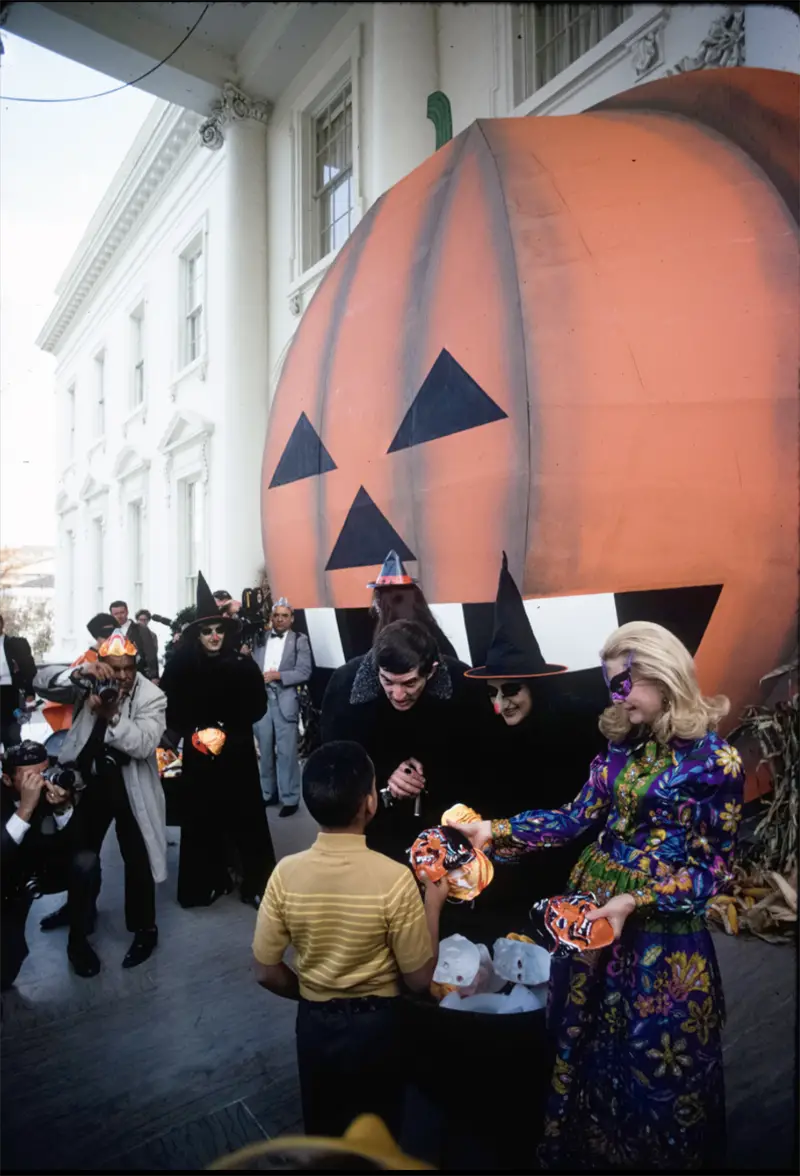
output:
M226 153L225 426L212 439L206 520L212 577L238 594L262 561L261 457L267 427L267 131L268 108L233 107ZM244 116L242 113L245 112ZM213 509L221 493L222 521ZM214 521L216 519L216 522Z

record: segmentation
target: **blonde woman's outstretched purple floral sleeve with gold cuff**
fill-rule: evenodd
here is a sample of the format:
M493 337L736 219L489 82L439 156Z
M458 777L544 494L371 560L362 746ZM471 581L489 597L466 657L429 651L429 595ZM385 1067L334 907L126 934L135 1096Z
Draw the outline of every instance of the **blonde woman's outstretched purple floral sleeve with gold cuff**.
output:
M569 804L558 809L531 809L509 820L493 821L493 856L502 861L533 849L565 846L600 824L609 807L608 759L598 756L589 768L589 779Z

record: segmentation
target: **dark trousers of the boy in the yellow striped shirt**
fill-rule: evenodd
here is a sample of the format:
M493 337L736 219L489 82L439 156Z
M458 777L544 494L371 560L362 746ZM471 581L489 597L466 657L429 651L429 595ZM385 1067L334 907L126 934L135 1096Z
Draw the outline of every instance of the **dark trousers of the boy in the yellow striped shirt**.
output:
M300 1001L298 1070L307 1135L341 1136L359 1115L373 1114L396 1138L405 1088L398 1000Z

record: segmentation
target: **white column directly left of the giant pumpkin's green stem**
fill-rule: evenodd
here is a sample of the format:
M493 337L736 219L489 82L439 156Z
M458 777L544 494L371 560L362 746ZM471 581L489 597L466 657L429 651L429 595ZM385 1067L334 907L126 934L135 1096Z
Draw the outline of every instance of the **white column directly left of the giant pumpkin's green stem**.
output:
M373 199L432 155L428 94L439 88L433 5L373 5Z

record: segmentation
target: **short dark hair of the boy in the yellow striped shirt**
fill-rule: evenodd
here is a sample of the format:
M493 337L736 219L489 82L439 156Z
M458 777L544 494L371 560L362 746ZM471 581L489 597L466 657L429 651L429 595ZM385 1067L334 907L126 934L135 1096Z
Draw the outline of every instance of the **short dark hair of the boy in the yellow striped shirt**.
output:
M308 756L302 771L302 799L318 824L346 829L374 781L375 769L361 744L338 740L324 743Z

